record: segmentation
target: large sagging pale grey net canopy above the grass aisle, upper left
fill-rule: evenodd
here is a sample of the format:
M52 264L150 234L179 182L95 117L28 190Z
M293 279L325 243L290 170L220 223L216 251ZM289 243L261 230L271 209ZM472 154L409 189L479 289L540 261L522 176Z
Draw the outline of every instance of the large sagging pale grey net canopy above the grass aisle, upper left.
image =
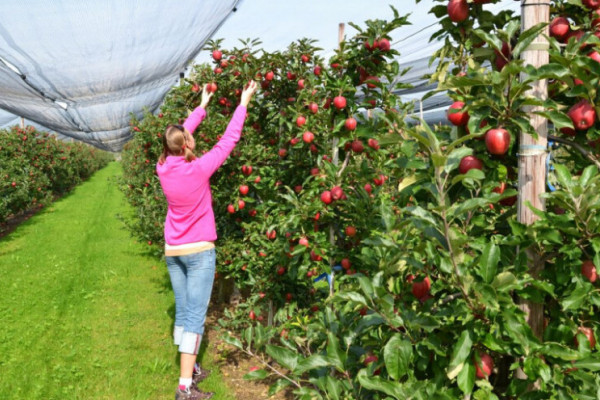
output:
M237 2L0 2L0 122L119 151Z

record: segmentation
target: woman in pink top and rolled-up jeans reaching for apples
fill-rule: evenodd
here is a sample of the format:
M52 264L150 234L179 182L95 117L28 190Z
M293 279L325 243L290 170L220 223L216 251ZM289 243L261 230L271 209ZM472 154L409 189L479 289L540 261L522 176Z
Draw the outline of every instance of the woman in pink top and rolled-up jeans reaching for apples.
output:
M213 393L198 390L197 383L206 377L196 356L204 333L206 310L215 274L215 217L209 179L225 162L240 139L246 108L256 92L250 81L242 91L221 140L197 158L192 134L206 116L205 108L212 97L207 85L202 90L200 106L183 126L169 125L163 136L163 152L156 165L162 190L168 203L165 220L165 256L175 294L174 343L181 353L181 374L176 399L210 399Z

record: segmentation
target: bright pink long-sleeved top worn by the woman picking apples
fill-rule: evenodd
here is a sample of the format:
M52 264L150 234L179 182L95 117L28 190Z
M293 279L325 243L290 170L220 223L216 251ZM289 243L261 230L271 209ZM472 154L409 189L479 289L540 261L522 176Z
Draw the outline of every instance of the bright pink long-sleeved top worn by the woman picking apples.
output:
M193 134L205 116L206 111L197 107L183 126ZM210 151L189 163L184 156L167 156L163 164L156 165L168 204L165 220L167 244L217 239L209 180L240 140L245 118L246 107L239 105L223 137Z

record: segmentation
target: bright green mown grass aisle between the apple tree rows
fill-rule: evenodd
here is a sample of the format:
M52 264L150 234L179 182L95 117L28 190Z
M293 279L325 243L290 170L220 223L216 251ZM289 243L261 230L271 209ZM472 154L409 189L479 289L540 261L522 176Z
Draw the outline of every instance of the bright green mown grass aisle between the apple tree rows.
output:
M174 397L169 277L117 218L120 174L109 164L0 239L0 399ZM202 388L233 399L207 353Z

